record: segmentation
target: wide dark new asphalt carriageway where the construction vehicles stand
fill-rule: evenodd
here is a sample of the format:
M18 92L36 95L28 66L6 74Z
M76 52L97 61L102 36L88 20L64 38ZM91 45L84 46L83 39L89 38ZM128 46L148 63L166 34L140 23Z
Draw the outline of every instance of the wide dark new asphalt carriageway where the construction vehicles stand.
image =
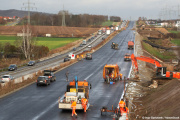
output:
M133 53L127 49L127 42L134 40L134 22L115 36L109 43L96 51L92 60L80 61L60 72L57 72L55 82L49 86L36 86L32 84L15 93L0 99L0 120L111 120L112 114L101 116L102 106L117 106L123 93L123 81L110 85L104 83L102 72L105 64L118 64L123 76L128 76L131 62L124 62L125 53ZM111 49L111 43L119 44L119 50ZM77 111L78 118L71 117L70 110L58 108L58 97L66 91L65 73L69 70L70 81L78 76L78 80L86 79L92 84L89 94L91 104L87 113Z

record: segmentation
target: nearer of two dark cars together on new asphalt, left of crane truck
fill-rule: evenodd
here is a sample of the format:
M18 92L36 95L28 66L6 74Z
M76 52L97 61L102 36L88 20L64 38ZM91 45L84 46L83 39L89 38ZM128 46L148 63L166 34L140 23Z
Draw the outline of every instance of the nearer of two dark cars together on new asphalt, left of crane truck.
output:
M50 85L51 81L48 76L39 76L36 81L37 86L39 85Z

